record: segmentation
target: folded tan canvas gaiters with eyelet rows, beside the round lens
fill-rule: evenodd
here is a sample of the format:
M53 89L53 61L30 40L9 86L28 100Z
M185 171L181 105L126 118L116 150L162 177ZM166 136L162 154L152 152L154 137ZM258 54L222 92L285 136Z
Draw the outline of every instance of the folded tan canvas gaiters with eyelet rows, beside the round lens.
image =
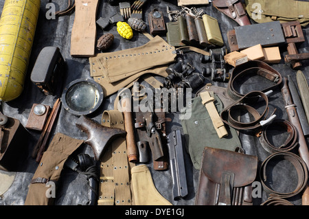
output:
M89 58L91 77L102 85L104 96L133 85L145 73L166 77L165 69L176 58L175 47L155 36L141 47L97 54Z

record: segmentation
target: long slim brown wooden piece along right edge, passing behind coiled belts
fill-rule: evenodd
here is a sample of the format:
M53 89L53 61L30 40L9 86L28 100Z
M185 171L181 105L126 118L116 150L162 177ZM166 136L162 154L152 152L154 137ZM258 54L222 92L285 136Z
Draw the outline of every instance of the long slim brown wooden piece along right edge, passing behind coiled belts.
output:
M288 113L288 120L295 126L299 137L299 157L303 159L306 163L307 168L309 168L309 151L306 143L306 139L299 122L299 117L293 103L292 96L290 95L290 90L288 89L288 78L284 78L284 86L282 87L282 96L284 97L284 102L286 104L286 113ZM308 170L307 170L308 171ZM309 205L309 187L308 183L304 189L303 196L301 197L302 205Z

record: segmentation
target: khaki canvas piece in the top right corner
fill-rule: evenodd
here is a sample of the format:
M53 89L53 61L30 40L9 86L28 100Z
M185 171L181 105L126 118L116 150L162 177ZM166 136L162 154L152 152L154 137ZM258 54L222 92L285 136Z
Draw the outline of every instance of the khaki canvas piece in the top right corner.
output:
M246 9L257 23L299 21L303 27L309 23L309 2L294 0L246 0Z

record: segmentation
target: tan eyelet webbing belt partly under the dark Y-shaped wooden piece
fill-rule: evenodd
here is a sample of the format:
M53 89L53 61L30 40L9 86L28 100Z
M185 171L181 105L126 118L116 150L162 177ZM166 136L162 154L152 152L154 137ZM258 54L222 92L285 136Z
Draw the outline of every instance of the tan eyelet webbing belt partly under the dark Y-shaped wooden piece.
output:
M104 111L101 124L124 129L120 111ZM101 158L98 205L132 205L126 138L113 140Z

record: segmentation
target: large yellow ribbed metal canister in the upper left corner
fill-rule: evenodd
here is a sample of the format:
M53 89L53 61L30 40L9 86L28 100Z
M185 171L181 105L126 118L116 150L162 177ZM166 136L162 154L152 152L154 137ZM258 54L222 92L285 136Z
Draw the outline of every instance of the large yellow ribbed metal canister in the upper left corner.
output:
M0 18L0 101L21 95L41 0L5 0Z

